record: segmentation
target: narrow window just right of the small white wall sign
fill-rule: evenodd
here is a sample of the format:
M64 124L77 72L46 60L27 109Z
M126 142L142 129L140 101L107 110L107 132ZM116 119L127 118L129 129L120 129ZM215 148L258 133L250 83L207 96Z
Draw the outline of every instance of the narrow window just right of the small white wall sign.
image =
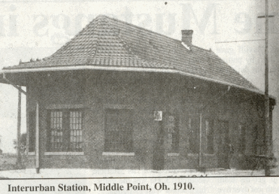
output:
M167 145L171 152L177 153L179 149L179 127L174 116L167 117Z

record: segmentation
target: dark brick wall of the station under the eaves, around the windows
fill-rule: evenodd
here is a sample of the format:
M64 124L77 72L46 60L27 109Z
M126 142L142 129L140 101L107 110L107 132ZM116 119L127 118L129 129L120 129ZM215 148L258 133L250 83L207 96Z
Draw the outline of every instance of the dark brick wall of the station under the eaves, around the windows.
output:
M39 79L39 77L41 79ZM36 80L36 81L34 81ZM241 136L239 124L246 126L246 149L253 154L253 130L262 131L262 119L257 115L253 98L237 89L231 89L216 103L227 87L200 80L158 73L124 73L112 71L41 73L29 78L27 87L27 122L40 100L40 164L41 167L90 167L96 169L151 169L156 152L159 122L153 120L153 111L176 114L179 119L179 149L169 156L167 135L164 137L164 169L195 168L197 154L188 154L188 117L228 121L229 140L234 147L232 157L239 156ZM236 92L237 91L237 92ZM248 99L248 100L247 100ZM47 109L61 105L82 105L84 108L84 155L45 156L47 147ZM105 109L129 108L133 110L133 148L135 156L103 156L105 149ZM163 121L165 125L165 121ZM202 152L205 147L205 129L202 124ZM27 134L29 125L27 124ZM167 134L167 128L164 128ZM262 132L261 132L262 133ZM29 138L29 135L27 135ZM214 153L203 154L204 167L217 166L218 136L214 137ZM239 153L241 154L241 153ZM28 156L27 167L33 167L34 156Z

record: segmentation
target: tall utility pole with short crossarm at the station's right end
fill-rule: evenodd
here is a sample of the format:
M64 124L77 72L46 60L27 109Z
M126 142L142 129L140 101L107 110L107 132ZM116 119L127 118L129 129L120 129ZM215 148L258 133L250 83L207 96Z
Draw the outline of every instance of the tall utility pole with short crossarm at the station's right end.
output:
M266 177L271 175L269 166L269 157L271 156L270 148L270 130L269 130L269 17L274 17L274 15L269 15L269 0L265 0L265 14L264 16L259 16L258 18L265 18L265 49L264 49L264 132L265 132L265 167L264 175Z

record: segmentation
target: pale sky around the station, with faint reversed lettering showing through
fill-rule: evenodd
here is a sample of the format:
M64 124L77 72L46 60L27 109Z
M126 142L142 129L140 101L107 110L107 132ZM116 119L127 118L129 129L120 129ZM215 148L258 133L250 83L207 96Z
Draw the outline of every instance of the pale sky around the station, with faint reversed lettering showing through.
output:
M276 0L270 0L270 13L275 15L270 19L270 94L279 97ZM264 91L264 19L257 18L264 14L262 0L0 1L0 69L50 56L100 14L179 40L181 29L193 29L194 45L213 50ZM25 108L22 95L22 133ZM277 137L278 107L274 112ZM0 84L0 148L4 152L15 152L16 130L17 90Z

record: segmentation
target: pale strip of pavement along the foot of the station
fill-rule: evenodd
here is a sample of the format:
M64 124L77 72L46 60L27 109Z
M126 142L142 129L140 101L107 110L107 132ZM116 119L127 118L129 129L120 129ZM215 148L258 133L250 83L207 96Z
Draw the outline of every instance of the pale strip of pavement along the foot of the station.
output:
M100 178L100 177L250 177L264 176L264 170L93 170L93 169L35 169L0 171L0 179L42 178Z

